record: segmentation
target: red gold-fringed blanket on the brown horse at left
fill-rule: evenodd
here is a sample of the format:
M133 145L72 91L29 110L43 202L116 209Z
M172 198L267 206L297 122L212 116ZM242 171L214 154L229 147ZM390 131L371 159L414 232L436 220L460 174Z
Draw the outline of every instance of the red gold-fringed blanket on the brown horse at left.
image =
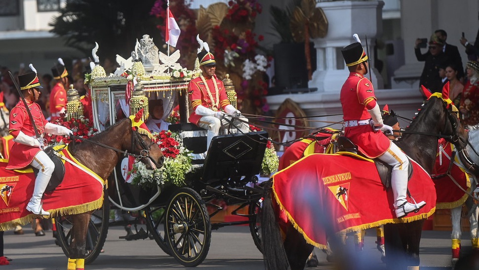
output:
M65 178L53 192L43 195L43 209L52 216L64 216L100 208L104 181L71 156L68 147L61 154L68 159L64 160ZM7 162L0 159L0 230L38 218L26 210L35 185L33 170L5 170Z

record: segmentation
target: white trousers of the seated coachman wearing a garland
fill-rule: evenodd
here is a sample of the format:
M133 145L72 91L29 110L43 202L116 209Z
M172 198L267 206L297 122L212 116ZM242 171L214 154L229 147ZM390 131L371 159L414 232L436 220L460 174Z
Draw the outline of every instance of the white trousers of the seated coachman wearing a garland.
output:
M198 121L198 126L200 128L203 128L205 130L208 130L208 136L207 136L207 141L206 141L206 150L209 149L209 145L211 143L211 139L213 139L214 136L217 136L220 134L220 131L222 134L226 134L225 130L226 129L238 129L238 133L247 133L249 132L249 124L247 124L248 119L244 117L239 117L239 118L231 118L228 116L225 116L230 122L226 121L225 119L218 119L217 117L214 116L202 116L200 118L200 121ZM241 122L240 120L245 121L246 123Z

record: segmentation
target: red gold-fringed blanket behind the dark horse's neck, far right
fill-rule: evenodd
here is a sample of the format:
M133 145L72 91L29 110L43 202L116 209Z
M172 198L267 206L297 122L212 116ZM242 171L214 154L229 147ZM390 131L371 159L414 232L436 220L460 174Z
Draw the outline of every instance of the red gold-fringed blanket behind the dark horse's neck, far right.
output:
M444 139L439 140L439 150L436 158L435 165L435 175L445 174L449 168L451 162L452 150L454 145L445 141ZM439 179L435 179L434 183L436 184L436 194L438 197L437 200L437 209L452 209L458 206L461 206L467 199L468 195L464 192L471 192L471 180L470 176L462 163L459 161L459 157L456 155L454 158L454 165L450 172L450 176L446 175ZM459 188L454 180L462 187Z

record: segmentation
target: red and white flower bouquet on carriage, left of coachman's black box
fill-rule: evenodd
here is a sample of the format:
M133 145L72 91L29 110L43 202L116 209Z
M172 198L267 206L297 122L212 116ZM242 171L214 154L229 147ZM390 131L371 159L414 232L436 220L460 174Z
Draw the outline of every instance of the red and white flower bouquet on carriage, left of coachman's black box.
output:
M135 162L129 172L132 184L143 188L154 188L165 183L176 186L185 185L185 178L192 171L192 156L190 151L183 146L180 135L171 131L153 133L156 143L163 152L165 160L160 169L148 170L141 162Z

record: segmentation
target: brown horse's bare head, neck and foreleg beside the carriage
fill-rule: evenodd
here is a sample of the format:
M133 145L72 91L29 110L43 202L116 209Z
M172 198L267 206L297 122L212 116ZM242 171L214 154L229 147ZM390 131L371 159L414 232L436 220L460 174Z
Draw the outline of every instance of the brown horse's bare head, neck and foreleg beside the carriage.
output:
M164 157L161 149L148 137L132 128L132 120L124 119L102 133L82 142L70 143L73 156L81 164L108 179L120 157L127 154L136 156L149 170L161 168ZM86 233L92 211L71 215L71 243L69 247L68 270L83 269L86 255Z

